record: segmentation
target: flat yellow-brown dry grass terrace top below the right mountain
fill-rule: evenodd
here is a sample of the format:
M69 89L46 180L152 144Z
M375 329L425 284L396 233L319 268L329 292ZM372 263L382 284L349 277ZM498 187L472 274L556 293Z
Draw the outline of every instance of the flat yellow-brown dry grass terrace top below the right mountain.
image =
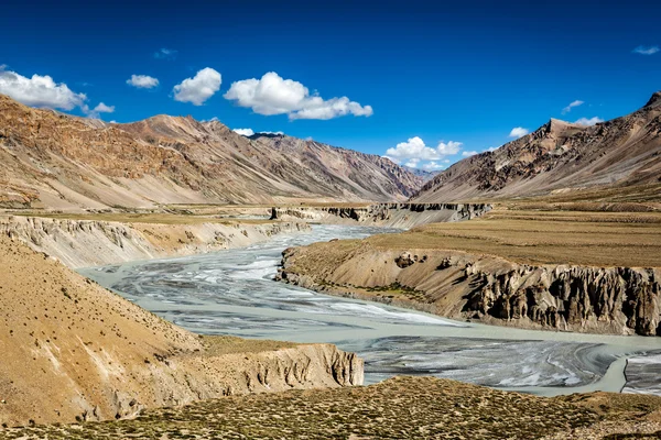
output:
M460 223L375 235L378 249L457 250L517 263L661 266L661 213L496 209Z

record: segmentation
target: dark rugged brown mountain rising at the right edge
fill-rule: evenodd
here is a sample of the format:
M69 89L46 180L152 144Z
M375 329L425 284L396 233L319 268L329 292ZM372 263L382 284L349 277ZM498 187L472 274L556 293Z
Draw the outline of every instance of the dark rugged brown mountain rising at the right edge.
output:
M494 152L465 158L412 198L440 202L540 196L581 188L660 185L661 92L640 110L594 127L552 119ZM660 185L661 187L661 185Z

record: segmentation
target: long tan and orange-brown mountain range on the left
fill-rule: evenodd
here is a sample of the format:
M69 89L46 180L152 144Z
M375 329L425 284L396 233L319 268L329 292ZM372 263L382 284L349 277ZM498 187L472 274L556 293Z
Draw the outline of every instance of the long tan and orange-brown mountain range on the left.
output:
M107 124L0 96L0 206L387 201L404 199L422 185L387 160L327 145L321 150L311 162L305 148L284 153L217 121L158 116Z

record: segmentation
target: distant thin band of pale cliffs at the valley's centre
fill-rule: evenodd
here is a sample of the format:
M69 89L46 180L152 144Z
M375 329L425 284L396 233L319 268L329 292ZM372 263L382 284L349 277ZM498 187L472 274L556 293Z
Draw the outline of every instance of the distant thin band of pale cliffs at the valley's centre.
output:
M434 222L470 220L491 210L486 204L378 204L364 207L272 208L271 219L319 223L411 228Z

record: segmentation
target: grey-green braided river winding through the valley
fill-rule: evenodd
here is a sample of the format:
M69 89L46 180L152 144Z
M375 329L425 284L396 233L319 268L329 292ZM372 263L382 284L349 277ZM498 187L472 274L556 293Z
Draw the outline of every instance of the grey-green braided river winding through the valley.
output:
M335 343L366 360L366 383L424 374L543 395L619 392L626 358L661 352L659 338L456 322L272 280L288 246L381 232L315 226L246 249L79 272L198 333Z

